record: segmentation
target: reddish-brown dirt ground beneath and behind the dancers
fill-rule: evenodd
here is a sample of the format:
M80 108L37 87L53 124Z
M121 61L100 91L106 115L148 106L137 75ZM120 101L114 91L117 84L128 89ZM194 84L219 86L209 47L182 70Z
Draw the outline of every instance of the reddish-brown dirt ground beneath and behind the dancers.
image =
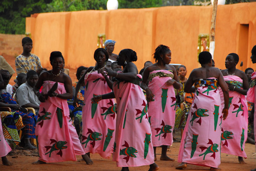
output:
M15 69L15 57L5 56L7 62ZM47 68L48 70L51 68ZM76 80L76 69L70 69L70 77L72 82ZM10 84L14 85L13 81L16 78L16 73L12 76ZM177 136L180 135L177 133ZM174 142L172 147L168 149L167 155L175 159L175 162L169 161L160 161L161 148L157 148L157 165L160 167L159 171L172 171L175 170L175 166L178 165L177 157L179 152L180 142ZM222 171L249 171L250 169L256 168L256 154L255 154L255 145L245 144L245 151L247 154L247 159L244 161L247 164L239 164L236 156L221 154L221 165L219 166ZM116 167L116 162L112 160L106 160L99 156L99 154L91 154L91 159L93 160L93 165L86 165L85 162L59 162L59 163L50 163L44 165L32 165L32 162L37 161L36 157L37 150L15 150L14 155L7 156L8 160L13 163L12 166L4 166L0 164L0 171L14 171L14 170L51 170L51 171L120 171L121 168ZM80 160L81 156L77 156L77 159ZM135 168L129 168L130 171L147 171L148 166L141 166ZM188 165L186 171L203 171L209 170L207 167L201 167L196 165Z

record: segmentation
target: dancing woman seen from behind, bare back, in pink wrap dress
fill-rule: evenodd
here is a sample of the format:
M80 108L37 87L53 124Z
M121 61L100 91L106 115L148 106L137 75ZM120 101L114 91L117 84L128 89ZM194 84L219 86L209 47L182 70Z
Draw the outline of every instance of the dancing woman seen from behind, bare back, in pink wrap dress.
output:
M228 88L221 71L212 66L208 51L199 54L201 68L194 69L186 81L184 91L195 92L186 126L180 143L176 169L186 168L187 163L208 166L218 170L221 164L221 121L228 115ZM195 83L195 88L192 85ZM221 112L219 86L224 94ZM223 113L223 115L222 115Z

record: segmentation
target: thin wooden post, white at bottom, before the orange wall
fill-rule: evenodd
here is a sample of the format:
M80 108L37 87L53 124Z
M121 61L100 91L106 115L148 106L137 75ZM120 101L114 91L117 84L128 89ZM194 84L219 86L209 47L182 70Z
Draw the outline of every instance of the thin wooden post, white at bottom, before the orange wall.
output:
M212 54L212 59L214 56L215 49L215 23L216 23L216 15L217 15L217 6L218 0L214 0L213 8L212 8L212 20L211 20L211 32L210 32L210 53Z

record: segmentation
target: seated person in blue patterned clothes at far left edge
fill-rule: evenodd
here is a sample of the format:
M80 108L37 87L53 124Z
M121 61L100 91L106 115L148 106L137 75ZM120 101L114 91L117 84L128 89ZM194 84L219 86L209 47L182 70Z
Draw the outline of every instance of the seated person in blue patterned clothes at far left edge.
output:
M24 108L21 108L20 105L17 105L17 102L14 100L11 94L6 92L6 86L10 80L9 72L4 70L0 71L1 76L3 77L3 88L0 88L0 106L9 107L12 109L13 115L19 114L22 117L22 123L25 125L23 130L25 138L24 149L35 149L35 147L30 143L31 138L35 138L35 123L37 116L32 113L24 113ZM2 117L2 116L1 116Z

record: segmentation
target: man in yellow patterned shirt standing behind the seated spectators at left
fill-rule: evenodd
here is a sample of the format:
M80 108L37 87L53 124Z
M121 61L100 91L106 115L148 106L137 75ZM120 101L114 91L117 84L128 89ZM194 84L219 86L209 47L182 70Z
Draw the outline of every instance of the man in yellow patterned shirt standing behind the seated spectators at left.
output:
M17 74L26 74L29 70L36 71L38 68L42 68L39 57L30 53L33 47L32 39L29 37L24 37L21 43L23 52L17 56L15 60Z

